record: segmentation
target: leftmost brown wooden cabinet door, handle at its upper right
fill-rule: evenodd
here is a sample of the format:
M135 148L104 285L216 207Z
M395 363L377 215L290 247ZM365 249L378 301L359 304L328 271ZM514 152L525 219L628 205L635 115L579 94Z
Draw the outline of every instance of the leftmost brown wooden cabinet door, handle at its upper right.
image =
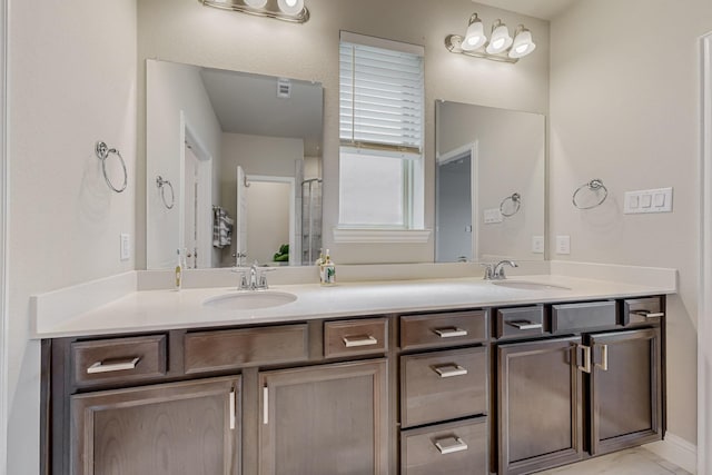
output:
M239 376L72 396L71 474L238 474L239 402Z

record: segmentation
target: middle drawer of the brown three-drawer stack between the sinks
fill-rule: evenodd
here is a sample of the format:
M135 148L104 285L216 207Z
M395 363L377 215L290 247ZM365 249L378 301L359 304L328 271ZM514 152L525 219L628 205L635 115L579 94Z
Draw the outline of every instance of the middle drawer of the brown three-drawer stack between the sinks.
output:
M400 357L400 425L487 413L487 348Z

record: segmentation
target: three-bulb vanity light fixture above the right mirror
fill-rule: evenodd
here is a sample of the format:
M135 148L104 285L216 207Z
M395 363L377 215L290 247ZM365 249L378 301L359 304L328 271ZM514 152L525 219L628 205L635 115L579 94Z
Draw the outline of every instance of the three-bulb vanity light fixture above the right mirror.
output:
M532 39L532 32L520 24L514 38L502 20L492 26L490 40L484 33L484 24L477 13L469 17L469 23L465 36L448 34L445 38L445 47L449 52L467 55L474 58L491 59L493 61L517 62L520 58L534 51L536 44Z

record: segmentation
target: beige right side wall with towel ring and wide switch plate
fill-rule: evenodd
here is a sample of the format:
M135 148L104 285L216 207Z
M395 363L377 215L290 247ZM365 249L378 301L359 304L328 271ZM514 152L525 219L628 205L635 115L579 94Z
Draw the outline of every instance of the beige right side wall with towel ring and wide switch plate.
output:
M669 429L696 439L699 271L699 37L708 0L582 1L552 22L550 243L593 263L673 267L669 299ZM581 211L571 195L601 178L606 202ZM674 187L673 212L623 215L627 190Z

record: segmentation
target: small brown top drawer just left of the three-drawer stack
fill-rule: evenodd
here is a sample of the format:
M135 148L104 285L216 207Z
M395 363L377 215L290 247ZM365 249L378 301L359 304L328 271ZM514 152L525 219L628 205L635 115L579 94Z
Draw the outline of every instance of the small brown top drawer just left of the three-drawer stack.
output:
M388 350L388 319L326 321L324 357L383 354Z

